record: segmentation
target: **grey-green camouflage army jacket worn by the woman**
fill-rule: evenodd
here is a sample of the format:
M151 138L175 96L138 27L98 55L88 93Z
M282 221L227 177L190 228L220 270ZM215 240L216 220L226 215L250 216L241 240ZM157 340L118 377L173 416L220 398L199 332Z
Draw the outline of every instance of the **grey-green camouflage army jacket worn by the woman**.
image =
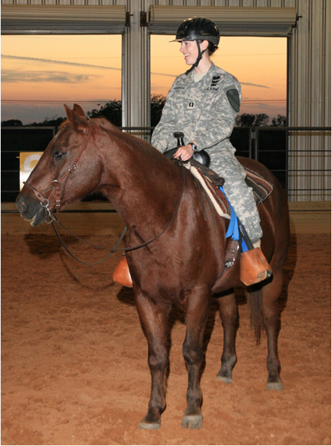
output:
M152 145L160 152L176 146L174 132L185 134L184 142L196 141L198 150L208 149L212 164L220 149L235 149L229 142L242 98L236 77L213 63L207 74L194 81L194 71L174 81L163 115L152 135Z

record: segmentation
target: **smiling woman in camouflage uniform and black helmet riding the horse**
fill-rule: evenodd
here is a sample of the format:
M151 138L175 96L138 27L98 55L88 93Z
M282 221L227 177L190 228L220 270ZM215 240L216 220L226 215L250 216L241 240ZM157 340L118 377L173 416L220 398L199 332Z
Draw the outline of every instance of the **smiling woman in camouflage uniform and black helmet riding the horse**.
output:
M219 30L209 19L194 17L181 23L174 41L180 42L180 52L191 68L178 76L169 90L152 146L165 152L174 147L173 133L183 132L185 145L176 151L176 159L187 161L194 151L207 151L210 168L225 178L227 198L253 246L259 247L262 229L253 191L229 140L240 110L241 86L236 77L210 59L219 40ZM264 257L261 251L260 255Z

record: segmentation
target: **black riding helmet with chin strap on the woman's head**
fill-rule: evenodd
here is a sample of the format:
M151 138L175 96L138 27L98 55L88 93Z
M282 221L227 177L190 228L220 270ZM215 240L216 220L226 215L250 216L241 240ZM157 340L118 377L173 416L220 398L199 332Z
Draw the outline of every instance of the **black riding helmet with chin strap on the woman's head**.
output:
M182 42L183 40L196 40L198 47L198 57L196 62L189 70L186 71L186 75L193 70L200 63L200 59L203 57L203 53L206 50L200 50L199 40L207 40L218 46L220 40L220 32L216 23L204 17L194 17L193 19L186 19L178 27L176 32L176 38L172 42Z

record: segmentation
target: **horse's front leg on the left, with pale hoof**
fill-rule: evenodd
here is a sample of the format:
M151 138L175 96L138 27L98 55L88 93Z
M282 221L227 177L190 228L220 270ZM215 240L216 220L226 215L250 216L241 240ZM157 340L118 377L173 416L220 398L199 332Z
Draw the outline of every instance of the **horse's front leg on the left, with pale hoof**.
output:
M158 429L160 416L166 407L166 378L169 364L167 338L169 308L160 308L141 291L135 294L138 316L149 347L148 363L151 373L149 410L141 421L141 429Z

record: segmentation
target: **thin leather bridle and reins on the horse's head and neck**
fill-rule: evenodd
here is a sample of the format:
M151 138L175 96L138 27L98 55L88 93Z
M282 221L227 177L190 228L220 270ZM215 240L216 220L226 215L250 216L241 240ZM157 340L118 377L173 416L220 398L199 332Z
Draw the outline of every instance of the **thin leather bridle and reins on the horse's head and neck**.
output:
M36 188L34 188L33 186L30 186L30 184L25 182L25 185L28 186L39 199L43 198L44 202L41 201L40 204L45 209L45 213L46 213L45 222L47 224L52 224L54 232L56 233L57 237L59 238L62 246L65 249L65 251L67 251L68 254L70 254L72 256L72 258L74 258L74 260L76 260L77 262L80 262L82 264L85 264L87 266L93 266L93 265L100 264L100 263L104 262L105 260L107 260L107 258L110 258L110 255L112 255L114 252L117 252L117 251L125 251L125 252L134 251L136 249L140 249L140 248L143 248L144 246L147 246L147 244L150 244L150 243L154 242L154 240L156 240L158 237L160 237L160 235L163 235L163 233L165 233L167 231L167 229L169 229L169 226L171 226L171 224L173 223L174 218L176 217L176 214L178 213L178 209L180 208L180 202L181 202L181 200L183 198L183 193L185 191L185 168L183 166L182 160L179 159L180 166L181 166L181 169L182 169L182 174L183 174L183 186L182 186L182 191L180 193L180 198L179 198L178 203L176 205L176 209L174 211L172 219L169 221L169 223L167 224L165 229L163 229L163 231L161 231L158 235L156 235L156 237L153 237L152 239L147 240L147 242L143 242L141 244L138 244L136 246L132 246L132 247L129 247L129 248L118 248L119 244L123 240L123 237L125 237L125 233L127 232L127 229L128 229L127 226L125 226L125 229L123 230L123 233L118 238L118 241L116 242L116 244L114 245L113 248L106 247L106 246L100 246L100 245L97 245L97 244L93 244L91 242L87 242L87 240L83 240L81 237L78 237L77 235L72 233L69 229L65 228L65 226L63 226L63 224L61 224L61 222L59 222L59 220L52 213L52 211L50 211L50 207L49 206L50 206L50 200L53 197L54 193L56 193L56 207L61 206L61 199L63 198L63 195L65 193L65 186L68 183L70 175L72 175L72 173L74 173L74 171L76 170L76 164L79 161L79 159L81 158L81 155L83 154L83 152L85 151L85 148L87 147L87 142L90 139L91 132L92 132L92 126L90 126L90 128L89 128L89 132L87 133L87 137L85 138L85 141L83 142L83 146L81 148L81 152L76 157L76 159L74 161L74 164L72 164L72 166L70 166L70 168L68 169L68 172L63 174L63 176L59 180L53 180L51 182L50 186L48 188L46 188L44 191L42 191L42 192L37 191ZM63 186L61 188L61 182L63 180L65 180L65 181L64 181ZM54 186L54 184L56 184L56 185ZM46 198L44 196L44 194L47 193L48 191L52 191L52 193L51 193L50 197ZM105 256L105 258L103 258L101 260L98 260L97 262L93 262L93 263L83 262L83 260L80 260L79 258L76 258L76 256L73 253L70 252L70 250L68 249L68 246L66 246L66 244L63 241L61 235L59 234L59 231L57 231L54 222L56 222L56 224L59 224L59 226L61 226L61 228L65 229L65 231L70 233L70 235L72 235L73 237L75 237L78 240L81 240L81 242L89 244L90 246L94 246L95 248L98 248L98 249L104 249L106 251L110 251L110 253L108 253Z

